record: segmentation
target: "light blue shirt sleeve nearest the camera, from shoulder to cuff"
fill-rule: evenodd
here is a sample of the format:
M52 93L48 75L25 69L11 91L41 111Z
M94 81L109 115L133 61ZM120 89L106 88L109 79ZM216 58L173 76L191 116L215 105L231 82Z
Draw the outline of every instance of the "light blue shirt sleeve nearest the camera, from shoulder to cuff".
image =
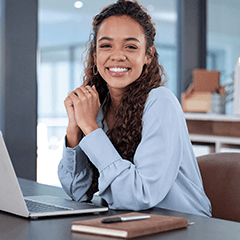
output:
M181 164L180 105L153 92L145 104L142 140L134 163L122 159L102 129L84 137L80 147L98 168L99 195L112 209L142 210L160 203Z

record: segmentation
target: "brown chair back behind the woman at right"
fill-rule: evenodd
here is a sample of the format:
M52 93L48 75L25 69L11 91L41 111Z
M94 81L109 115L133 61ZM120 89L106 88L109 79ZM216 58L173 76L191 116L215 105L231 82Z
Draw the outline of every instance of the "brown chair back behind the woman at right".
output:
M240 222L240 153L197 157L212 216Z

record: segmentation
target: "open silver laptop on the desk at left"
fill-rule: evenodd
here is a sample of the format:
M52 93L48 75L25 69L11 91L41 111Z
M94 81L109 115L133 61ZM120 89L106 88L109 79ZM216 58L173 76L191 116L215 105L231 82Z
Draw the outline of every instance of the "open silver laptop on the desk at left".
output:
M108 207L56 196L24 197L0 131L0 210L26 218L98 213Z

